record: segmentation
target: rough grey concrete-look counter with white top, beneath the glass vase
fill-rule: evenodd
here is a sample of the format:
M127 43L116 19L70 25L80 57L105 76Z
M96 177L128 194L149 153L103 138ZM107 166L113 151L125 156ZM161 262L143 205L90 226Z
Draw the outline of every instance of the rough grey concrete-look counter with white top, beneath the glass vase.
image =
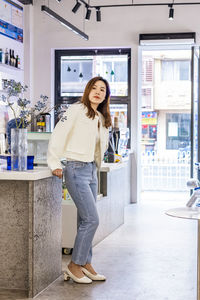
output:
M0 171L1 288L34 297L61 275L61 203L48 168Z

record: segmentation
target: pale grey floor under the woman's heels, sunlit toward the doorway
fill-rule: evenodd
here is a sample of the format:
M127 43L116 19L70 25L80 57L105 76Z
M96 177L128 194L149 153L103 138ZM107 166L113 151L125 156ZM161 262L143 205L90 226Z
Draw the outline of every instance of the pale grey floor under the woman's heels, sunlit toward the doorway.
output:
M80 285L61 276L36 299L195 300L197 223L164 214L185 206L182 196L174 200L173 193L154 199L149 195L129 205L125 224L94 248L93 264L107 276L106 282ZM63 270L69 259L63 257ZM4 291L0 299L27 298Z

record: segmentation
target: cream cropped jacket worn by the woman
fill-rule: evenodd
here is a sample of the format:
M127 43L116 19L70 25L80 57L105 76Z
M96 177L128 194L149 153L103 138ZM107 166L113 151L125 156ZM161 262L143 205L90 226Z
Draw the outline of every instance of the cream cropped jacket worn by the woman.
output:
M87 107L82 103L72 104L64 114L66 120L59 121L53 130L49 141L47 163L51 170L61 169L60 160L91 162L95 160L100 167L104 152L108 147L109 130L104 126L104 117L90 119L86 116ZM64 118L63 118L64 119ZM99 148L96 147L96 134L100 120Z

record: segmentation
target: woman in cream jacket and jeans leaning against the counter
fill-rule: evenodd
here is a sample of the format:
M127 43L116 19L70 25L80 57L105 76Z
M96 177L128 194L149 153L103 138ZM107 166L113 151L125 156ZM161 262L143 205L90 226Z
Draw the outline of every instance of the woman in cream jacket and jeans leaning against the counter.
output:
M48 165L59 178L64 172L66 187L77 207L77 236L65 279L71 277L78 283L106 279L95 272L91 260L92 240L99 224L96 166L100 167L108 147L109 99L108 82L102 77L92 78L81 102L71 105L64 121L56 125L48 147ZM67 161L63 171L61 158Z

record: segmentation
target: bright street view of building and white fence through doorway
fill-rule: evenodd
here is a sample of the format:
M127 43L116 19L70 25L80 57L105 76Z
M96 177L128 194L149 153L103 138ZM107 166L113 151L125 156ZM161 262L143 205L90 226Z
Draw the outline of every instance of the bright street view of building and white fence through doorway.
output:
M184 191L191 159L191 51L142 56L142 190Z

